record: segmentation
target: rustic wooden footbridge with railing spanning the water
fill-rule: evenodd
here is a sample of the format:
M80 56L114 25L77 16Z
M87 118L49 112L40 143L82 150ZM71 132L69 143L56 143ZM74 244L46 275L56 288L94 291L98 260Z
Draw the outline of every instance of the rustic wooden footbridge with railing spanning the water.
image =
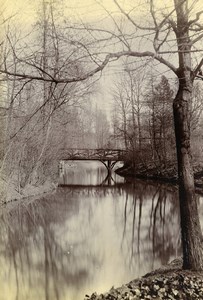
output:
M62 149L61 161L67 160L99 160L111 173L111 170L118 161L125 161L128 152L124 149Z

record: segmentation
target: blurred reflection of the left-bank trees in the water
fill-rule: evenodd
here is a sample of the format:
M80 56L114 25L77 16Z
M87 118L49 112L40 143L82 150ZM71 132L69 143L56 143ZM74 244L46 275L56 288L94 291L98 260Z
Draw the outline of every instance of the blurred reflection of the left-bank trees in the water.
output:
M64 196L65 200L67 194ZM17 210L3 214L0 231L4 259L1 257L1 260L10 280L14 271L16 282L15 297L13 295L11 299L27 299L28 293L36 299L66 299L67 291L63 295L63 285L74 285L74 292L77 292L77 287L80 290L91 275L83 260L88 260L89 265L99 263L99 257L90 251L77 253L79 248L82 249L85 237L76 243L63 243L63 235L68 234L63 232L68 214L77 213L79 209L75 200L65 203L60 199L42 199L26 206L19 205ZM70 295L70 299L74 297Z

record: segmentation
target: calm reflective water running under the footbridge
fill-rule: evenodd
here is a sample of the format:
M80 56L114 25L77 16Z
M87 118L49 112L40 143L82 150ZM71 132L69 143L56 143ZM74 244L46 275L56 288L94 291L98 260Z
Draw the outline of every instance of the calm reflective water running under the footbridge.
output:
M82 300L180 255L176 190L105 177L69 163L54 195L1 214L0 300Z

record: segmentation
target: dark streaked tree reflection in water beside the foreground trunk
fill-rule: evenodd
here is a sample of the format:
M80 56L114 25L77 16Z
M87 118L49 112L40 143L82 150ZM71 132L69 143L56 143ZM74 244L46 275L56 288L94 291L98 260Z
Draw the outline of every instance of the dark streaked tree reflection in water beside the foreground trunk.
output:
M121 248L128 245L130 253L126 263L143 270L147 260L154 269L180 255L179 204L174 188L136 180L126 191L121 242Z

